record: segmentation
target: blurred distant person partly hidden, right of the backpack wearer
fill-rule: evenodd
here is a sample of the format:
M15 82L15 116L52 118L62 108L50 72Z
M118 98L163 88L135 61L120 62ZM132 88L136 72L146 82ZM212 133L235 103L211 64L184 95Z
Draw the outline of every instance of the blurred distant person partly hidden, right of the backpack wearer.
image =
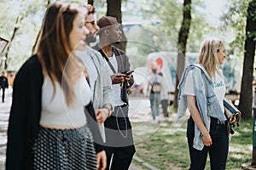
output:
M162 81L163 87L167 87L165 78L163 78L163 73L160 72L160 73L158 73L158 75L160 77L162 77L162 79L163 79L163 81ZM164 117L168 117L168 105L169 105L168 99L169 99L168 89L167 88L162 88L161 92L160 92L160 104L162 105L162 110L163 110Z

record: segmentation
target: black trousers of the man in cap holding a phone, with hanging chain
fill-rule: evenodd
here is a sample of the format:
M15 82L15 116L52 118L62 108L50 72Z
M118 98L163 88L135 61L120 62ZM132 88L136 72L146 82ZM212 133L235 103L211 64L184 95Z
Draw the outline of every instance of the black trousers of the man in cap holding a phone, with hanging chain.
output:
M136 152L132 137L131 122L128 117L128 109L129 105L115 107L113 116L108 117L104 122L107 145L106 169L128 170L132 156Z

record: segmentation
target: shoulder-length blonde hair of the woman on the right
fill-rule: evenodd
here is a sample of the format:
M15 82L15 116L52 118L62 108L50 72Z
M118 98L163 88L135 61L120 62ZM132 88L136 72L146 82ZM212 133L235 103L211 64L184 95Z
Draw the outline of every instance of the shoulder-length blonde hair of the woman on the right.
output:
M218 70L219 61L217 52L220 48L224 48L224 41L218 38L206 39L201 44L198 62L205 67L211 78L214 77L215 71L217 71L220 76L223 76Z

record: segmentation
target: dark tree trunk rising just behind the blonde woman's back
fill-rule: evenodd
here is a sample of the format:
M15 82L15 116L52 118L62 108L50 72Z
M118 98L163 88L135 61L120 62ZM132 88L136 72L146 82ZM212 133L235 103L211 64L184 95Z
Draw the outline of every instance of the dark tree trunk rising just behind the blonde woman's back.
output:
M189 37L189 28L191 25L191 0L184 0L183 2L183 23L178 34L177 42L177 75L176 75L176 84L175 84L175 93L174 93L174 102L173 105L177 107L177 94L178 89L177 85L179 79L181 78L185 66L185 54L186 54L186 45Z

